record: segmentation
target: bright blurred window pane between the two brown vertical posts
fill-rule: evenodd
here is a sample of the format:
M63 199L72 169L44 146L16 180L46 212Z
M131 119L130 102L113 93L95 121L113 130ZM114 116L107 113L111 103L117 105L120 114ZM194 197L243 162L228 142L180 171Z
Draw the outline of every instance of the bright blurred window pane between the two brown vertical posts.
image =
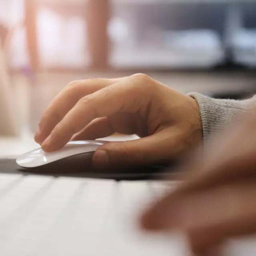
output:
M84 1L86 2L86 1ZM86 6L58 2L40 6L37 18L40 65L47 68L84 68L90 64L87 26L82 14ZM68 6L72 5L72 8Z

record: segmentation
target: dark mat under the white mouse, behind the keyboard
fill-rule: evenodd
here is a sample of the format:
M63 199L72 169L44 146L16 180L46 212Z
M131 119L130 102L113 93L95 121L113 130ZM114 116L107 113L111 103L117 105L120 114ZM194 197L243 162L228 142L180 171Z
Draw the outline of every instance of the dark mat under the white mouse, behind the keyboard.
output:
M81 158L80 158L81 160ZM102 178L102 179L114 179L114 180L150 180L161 179L163 174L166 173L166 166L150 166L131 170L108 170L106 172L96 171L92 163L88 160L84 160L84 166L81 166L81 162L76 161L76 158L62 160L61 167L58 161L47 164L45 166L25 169L16 164L15 159L0 159L0 173L9 174L33 174L44 176L66 176L66 177L81 177L81 178ZM174 168L168 168L172 172Z

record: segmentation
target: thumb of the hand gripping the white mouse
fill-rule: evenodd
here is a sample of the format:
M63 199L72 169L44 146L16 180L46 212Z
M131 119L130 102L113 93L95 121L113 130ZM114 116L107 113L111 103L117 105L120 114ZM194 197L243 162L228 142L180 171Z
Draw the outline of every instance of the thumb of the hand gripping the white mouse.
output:
M109 142L98 148L92 162L98 170L163 164L170 162L172 156L178 153L177 141L176 134L162 131L138 140Z

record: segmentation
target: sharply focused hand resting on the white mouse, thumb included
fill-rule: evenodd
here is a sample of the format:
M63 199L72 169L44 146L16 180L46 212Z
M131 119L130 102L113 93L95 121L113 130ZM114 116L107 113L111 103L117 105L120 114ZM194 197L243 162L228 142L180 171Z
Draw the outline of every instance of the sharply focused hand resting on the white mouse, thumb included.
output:
M52 152L69 140L94 140L115 132L141 139L100 147L93 157L96 168L170 161L201 142L199 107L193 98L144 74L74 81L45 111L35 140Z

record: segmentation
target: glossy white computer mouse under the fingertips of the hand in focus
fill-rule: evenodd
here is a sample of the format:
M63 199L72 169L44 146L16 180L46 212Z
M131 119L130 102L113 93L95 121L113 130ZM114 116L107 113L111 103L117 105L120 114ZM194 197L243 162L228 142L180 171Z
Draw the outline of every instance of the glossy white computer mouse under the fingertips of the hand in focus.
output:
M16 163L24 168L46 166L72 156L80 156L82 154L95 152L98 147L106 143L107 141L102 140L72 141L68 142L68 144L61 150L51 153L46 153L42 148L38 148L20 156L16 160Z

